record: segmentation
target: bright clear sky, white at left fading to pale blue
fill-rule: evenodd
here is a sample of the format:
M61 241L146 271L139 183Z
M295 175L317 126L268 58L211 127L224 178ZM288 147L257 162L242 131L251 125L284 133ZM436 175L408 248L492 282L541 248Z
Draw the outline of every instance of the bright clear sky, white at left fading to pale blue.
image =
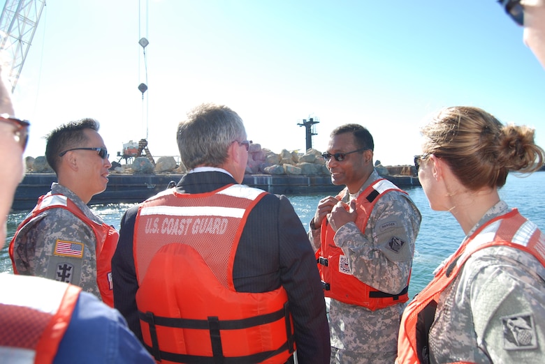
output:
M212 102L276 153L303 151L297 124L314 117L314 148L360 123L375 160L404 165L426 115L452 105L533 126L545 146L545 70L522 33L494 0L149 0L147 12L145 0L48 0L13 98L32 123L26 156L82 117L101 122L110 156L146 136L154 156L175 156L177 123Z

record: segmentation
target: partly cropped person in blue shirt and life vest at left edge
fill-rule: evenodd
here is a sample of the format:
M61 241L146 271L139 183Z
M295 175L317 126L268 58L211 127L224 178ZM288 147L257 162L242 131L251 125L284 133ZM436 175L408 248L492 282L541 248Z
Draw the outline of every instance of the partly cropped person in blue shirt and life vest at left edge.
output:
M13 114L0 80L0 248L29 128ZM0 328L0 363L153 363L119 312L54 280L0 274Z

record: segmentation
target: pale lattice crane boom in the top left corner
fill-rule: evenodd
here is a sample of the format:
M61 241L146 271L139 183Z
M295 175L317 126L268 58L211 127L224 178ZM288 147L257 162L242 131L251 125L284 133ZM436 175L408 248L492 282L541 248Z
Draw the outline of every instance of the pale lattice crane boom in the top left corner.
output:
M0 15L0 51L10 62L8 80L11 92L21 74L32 38L36 33L45 0L6 0Z

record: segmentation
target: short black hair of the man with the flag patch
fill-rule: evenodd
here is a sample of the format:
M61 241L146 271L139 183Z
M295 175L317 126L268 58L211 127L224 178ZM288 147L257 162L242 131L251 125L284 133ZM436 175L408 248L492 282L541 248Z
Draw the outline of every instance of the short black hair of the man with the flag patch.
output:
M63 124L58 128L55 128L48 134L46 139L48 144L45 146L45 158L47 158L49 165L57 173L59 167L59 161L61 157L59 154L71 148L78 148L83 143L87 142L87 136L85 135L85 129L91 129L99 131L100 124L95 119L81 119L78 121L70 121Z

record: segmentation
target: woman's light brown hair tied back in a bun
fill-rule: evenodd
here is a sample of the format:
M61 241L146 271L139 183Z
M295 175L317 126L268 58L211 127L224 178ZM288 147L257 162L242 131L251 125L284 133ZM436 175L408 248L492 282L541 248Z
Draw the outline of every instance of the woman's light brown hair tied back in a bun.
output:
M421 132L423 152L444 159L471 190L502 187L509 171L531 173L544 163L532 128L504 126L478 107L446 107Z

